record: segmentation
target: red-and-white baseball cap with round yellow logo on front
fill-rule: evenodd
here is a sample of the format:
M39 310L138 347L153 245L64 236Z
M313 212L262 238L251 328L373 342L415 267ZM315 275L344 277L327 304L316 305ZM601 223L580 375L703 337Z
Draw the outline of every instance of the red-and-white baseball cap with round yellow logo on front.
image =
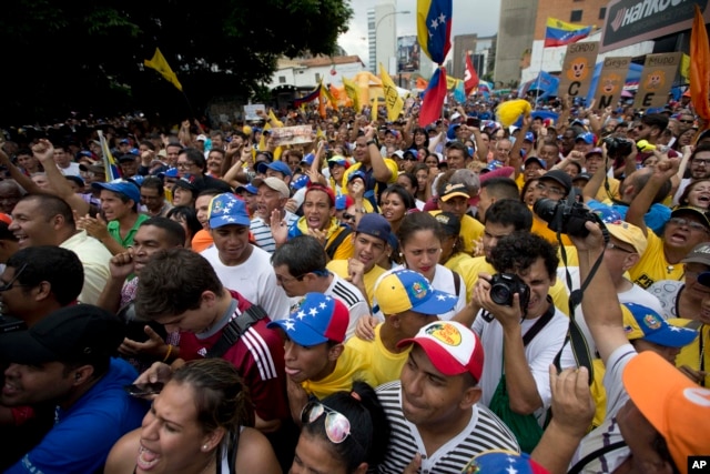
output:
M480 380L484 371L484 347L469 327L455 321L435 321L422 327L417 335L397 343L397 347L418 344L437 371L444 375L468 372Z

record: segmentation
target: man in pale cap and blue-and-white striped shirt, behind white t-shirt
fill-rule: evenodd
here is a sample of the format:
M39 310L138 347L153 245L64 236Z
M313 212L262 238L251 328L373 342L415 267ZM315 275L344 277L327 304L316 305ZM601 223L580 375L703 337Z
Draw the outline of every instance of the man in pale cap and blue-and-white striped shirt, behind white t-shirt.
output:
M286 209L291 196L286 183L276 178L256 178L252 183L256 189L256 214L252 219L250 229L254 235L254 242L268 253L274 253L276 242L271 233L271 220L285 221L287 226L293 225L298 216Z

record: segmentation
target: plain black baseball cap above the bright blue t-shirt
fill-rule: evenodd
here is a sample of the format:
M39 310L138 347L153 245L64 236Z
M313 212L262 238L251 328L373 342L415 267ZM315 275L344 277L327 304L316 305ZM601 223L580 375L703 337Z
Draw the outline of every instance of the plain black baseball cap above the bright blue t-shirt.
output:
M109 357L125 336L116 315L91 304L65 306L31 329L0 335L0 360L26 365Z

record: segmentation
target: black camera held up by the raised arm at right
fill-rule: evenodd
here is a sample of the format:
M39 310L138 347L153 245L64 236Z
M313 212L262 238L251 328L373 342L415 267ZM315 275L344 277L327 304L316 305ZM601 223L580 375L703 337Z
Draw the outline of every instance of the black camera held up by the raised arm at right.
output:
M532 205L532 211L547 222L549 230L579 238L589 235L586 222L600 222L599 216L575 201L572 194L560 201L538 199Z

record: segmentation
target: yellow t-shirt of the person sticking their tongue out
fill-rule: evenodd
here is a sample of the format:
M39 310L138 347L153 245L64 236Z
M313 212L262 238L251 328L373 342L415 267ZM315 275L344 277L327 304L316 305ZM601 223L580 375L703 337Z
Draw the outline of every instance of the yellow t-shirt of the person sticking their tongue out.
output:
M375 377L366 362L366 355L356 347L349 347L346 344L343 353L337 357L333 373L320 381L305 381L302 386L308 395L315 395L318 400L323 400L335 392L351 392L353 382L356 381L376 386Z

